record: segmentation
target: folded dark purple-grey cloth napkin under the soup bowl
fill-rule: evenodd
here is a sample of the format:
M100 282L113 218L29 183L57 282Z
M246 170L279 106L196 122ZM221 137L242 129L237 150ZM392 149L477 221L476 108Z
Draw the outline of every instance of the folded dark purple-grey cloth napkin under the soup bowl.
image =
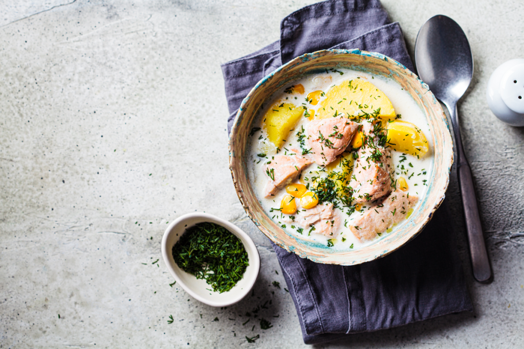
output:
M413 70L397 22L378 0L329 0L284 18L280 40L222 65L231 115L268 73L321 49L380 52ZM314 263L273 244L297 308L304 343L334 340L472 310L446 201L424 231L400 250L355 266Z

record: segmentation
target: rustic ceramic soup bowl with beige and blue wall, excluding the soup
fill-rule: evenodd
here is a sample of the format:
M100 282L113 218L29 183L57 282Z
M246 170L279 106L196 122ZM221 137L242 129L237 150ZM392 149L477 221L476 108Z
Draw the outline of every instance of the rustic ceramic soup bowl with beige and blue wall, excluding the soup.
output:
M249 131L261 104L277 89L307 74L325 69L351 69L394 80L415 100L428 120L433 139L433 170L426 194L420 198L409 219L402 221L393 233L383 236L362 249L333 251L325 245L301 240L287 233L261 207L247 171ZM243 100L236 115L229 141L230 169L238 198L257 227L278 246L318 263L354 265L383 257L413 239L440 206L449 183L453 163L453 145L444 111L428 85L399 62L383 54L360 50L323 50L304 54L264 77Z

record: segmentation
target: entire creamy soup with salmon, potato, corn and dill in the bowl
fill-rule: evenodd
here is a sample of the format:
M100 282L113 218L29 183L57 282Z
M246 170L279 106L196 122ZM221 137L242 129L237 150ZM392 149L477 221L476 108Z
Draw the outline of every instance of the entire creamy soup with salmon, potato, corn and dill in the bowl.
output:
M395 81L352 70L275 92L251 132L249 178L288 234L333 250L394 233L425 194L428 122Z

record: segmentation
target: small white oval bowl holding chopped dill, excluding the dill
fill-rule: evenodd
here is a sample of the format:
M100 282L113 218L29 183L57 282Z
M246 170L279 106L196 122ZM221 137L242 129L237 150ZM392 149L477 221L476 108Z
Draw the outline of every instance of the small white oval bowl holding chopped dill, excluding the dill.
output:
M171 253L174 244L176 244L180 239L185 232L185 229L201 222L219 224L234 234L244 244L247 257L249 258L249 265L246 268L244 277L229 291L222 293L212 290L210 291L211 285L206 283L204 279L197 279L194 275L184 272L178 267L177 263L174 262ZM253 285L255 285L258 272L260 271L260 255L258 254L257 247L253 240L251 240L245 232L238 229L234 224L213 215L209 215L208 213L188 213L169 224L169 227L164 232L162 238L162 257L169 272L177 281L177 284L182 286L191 297L212 307L231 306L241 301L242 298L249 293Z

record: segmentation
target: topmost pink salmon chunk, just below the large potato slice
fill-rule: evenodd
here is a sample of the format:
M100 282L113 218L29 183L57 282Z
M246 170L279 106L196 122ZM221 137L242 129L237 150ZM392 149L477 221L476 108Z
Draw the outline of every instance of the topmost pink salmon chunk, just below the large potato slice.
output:
M307 128L308 146L313 160L328 165L342 154L358 129L358 123L345 117L313 120Z

